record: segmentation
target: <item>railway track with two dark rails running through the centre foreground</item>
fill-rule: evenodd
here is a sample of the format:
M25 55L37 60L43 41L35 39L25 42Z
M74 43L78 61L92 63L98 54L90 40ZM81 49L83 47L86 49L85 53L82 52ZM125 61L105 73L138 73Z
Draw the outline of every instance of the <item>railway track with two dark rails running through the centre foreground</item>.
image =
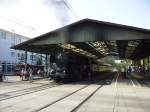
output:
M59 103L60 101L65 100L65 99L68 98L69 96L75 95L76 93L80 92L80 91L83 90L83 89L86 89L86 88L89 87L90 85L91 85L91 84L85 85L85 86L83 86L83 87L81 87L81 88L79 88L79 89L73 91L72 93L69 93L69 94L67 94L67 95L65 95L65 96L63 96L63 97L61 97L61 98L59 98L59 99L57 99L57 100L55 100L55 101L49 103L49 104L44 105L44 106L41 107L41 108L38 108L38 109L32 111L32 112L39 112L39 111L42 111L42 112L43 112L44 109L49 108L49 107L51 107L52 105L57 104L57 103ZM70 112L76 112L76 111L77 111L88 99L90 99L102 86L103 86L103 85L99 85L98 87L96 87L96 89L95 89L92 93L90 93L86 98L84 98L84 100L82 100L78 105L76 105L74 108L72 108L72 110L71 110Z

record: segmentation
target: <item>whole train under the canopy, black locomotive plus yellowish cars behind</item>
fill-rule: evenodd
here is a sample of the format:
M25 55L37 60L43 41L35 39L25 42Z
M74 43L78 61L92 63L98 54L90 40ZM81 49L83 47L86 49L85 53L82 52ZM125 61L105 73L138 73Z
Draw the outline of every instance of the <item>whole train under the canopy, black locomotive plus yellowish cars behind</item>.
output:
M49 76L56 81L103 80L113 76L111 65L69 52L51 54L50 63Z

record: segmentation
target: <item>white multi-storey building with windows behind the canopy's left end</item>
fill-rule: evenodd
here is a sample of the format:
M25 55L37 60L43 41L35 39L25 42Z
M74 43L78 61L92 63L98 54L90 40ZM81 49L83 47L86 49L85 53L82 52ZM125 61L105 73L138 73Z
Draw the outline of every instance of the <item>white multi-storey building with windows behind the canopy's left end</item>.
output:
M11 49L10 47L13 45L19 44L23 41L26 41L28 39L29 38L27 37L0 29L0 62L5 63L5 66L3 68L6 69L5 70L6 73L8 71L10 72L10 70L7 70L8 67L10 69L11 65L17 64L20 62L18 55L25 54L25 51L14 50L14 49ZM30 58L30 55L32 55L32 53L28 52L27 62L29 64L36 64L36 59L32 61ZM33 55L36 55L36 54L33 53Z

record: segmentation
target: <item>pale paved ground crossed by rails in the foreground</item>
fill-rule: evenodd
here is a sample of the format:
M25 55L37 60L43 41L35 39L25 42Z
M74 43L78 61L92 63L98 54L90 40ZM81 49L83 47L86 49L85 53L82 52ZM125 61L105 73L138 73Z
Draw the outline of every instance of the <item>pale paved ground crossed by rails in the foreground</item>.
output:
M0 112L149 112L150 110L150 87L147 80L123 79L116 73L112 79L54 85L56 84L48 80L32 83L14 80L11 83L0 83L0 99L2 99ZM22 94L26 91L28 94ZM9 98L11 95L15 97Z

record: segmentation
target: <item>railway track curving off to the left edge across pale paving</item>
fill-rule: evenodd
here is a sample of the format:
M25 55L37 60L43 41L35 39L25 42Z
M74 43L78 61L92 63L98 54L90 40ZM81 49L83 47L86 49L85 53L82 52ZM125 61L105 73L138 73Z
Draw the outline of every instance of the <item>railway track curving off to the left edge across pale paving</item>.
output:
M19 97L19 96L23 96L23 95L27 95L27 94L31 94L31 93L35 93L38 91L57 87L60 85L62 85L62 84L59 84L59 85L58 84L54 84L54 85L45 84L42 86L31 87L31 88L26 88L26 89L21 89L21 90L17 90L17 91L11 91L11 92L7 92L7 93L3 93L3 94L0 94L0 101L7 100L10 98Z

